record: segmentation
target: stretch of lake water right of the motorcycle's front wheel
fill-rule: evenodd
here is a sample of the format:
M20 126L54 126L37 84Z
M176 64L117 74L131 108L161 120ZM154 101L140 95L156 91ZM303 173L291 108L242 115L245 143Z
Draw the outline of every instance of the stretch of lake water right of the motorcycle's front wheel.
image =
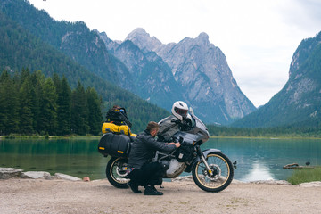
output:
M212 138L202 149L217 148L229 159L237 161L235 179L285 180L292 170L283 169L289 163L321 165L321 140L313 139L237 139Z

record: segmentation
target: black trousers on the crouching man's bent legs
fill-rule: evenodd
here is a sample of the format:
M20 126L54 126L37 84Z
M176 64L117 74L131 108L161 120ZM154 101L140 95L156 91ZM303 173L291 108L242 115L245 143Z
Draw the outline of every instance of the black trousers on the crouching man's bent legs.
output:
M141 169L134 169L129 173L129 178L137 185L161 185L165 176L165 169L159 162L146 163Z

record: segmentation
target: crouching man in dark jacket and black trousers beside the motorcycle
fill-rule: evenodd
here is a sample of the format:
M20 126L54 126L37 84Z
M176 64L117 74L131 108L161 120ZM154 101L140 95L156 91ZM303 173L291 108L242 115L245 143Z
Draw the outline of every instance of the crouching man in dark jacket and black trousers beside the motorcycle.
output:
M139 185L145 187L145 195L162 195L155 185L161 185L165 169L159 162L151 162L156 151L172 152L180 146L179 143L163 143L155 139L160 126L156 122L149 122L144 132L136 136L132 144L128 160L129 187L134 193L142 193Z

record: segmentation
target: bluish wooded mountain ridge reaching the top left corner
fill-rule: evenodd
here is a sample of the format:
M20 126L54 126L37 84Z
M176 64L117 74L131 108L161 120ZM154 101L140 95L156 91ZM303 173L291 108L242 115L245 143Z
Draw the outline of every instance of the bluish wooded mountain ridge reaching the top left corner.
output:
M126 66L108 53L100 37L82 21L54 21L44 10L22 0L2 0L0 10L46 44L110 82L118 83L119 76L127 72Z

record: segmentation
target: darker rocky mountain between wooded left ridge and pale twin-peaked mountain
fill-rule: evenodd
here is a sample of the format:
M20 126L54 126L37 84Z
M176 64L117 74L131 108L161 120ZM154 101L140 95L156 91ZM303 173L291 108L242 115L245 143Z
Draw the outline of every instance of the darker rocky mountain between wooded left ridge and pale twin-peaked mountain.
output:
M129 78L120 81L120 86L165 109L170 109L175 101L183 98L177 93L182 89L177 86L169 65L163 62L160 56L154 52L143 52L130 40L119 44L113 42L104 32L95 31L103 39L109 53L128 68L126 75Z

